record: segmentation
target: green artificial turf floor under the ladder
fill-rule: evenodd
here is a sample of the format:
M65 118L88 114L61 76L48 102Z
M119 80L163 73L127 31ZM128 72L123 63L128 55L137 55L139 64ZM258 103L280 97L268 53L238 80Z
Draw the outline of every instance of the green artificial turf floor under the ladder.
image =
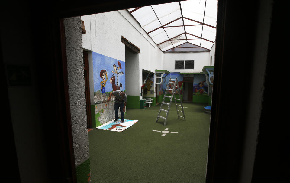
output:
M183 103L185 121L169 111L166 126L156 123L160 104L127 109L139 120L123 132L89 131L91 180L95 182L205 182L210 115L203 103ZM180 108L179 108L180 110ZM165 116L163 114L163 116ZM161 132L169 132L162 136Z

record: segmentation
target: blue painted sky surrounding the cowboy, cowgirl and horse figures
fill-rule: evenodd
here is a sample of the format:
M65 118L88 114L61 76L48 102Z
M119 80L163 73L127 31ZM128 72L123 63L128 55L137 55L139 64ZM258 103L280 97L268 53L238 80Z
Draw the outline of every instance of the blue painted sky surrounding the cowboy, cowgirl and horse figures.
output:
M114 71L113 65L115 64L117 67L118 66L118 61L121 63L121 67L118 72L123 72L124 74L118 74L118 85L122 87L120 87L120 90L124 91L126 90L125 86L126 86L126 80L125 80L125 62L121 61L121 60L117 60L111 57L107 57L105 55L96 53L96 52L92 52L92 59L93 59L93 75L94 75L94 91L100 91L101 90L101 81L103 81L103 79L100 77L100 72L101 70L106 70L107 71L107 75L108 75L108 80L105 83L105 92L111 92L113 91L113 86L110 83L110 78L112 77L112 75L115 75L115 84L117 84L117 74L113 73L112 71ZM106 78L107 79L107 78Z

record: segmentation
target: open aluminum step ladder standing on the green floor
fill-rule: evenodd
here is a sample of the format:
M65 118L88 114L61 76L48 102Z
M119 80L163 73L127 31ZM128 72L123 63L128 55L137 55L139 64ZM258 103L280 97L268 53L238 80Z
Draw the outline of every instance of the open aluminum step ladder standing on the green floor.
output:
M174 81L174 82L172 82L172 81ZM173 87L171 87L171 89L169 89L169 86L170 85L172 86L172 84L174 84ZM171 96L167 96L167 93L169 91L172 91ZM177 94L179 95L179 99L177 99L175 97L175 95L177 95ZM161 106L160 106L160 109L159 109L159 113L157 115L156 122L158 121L158 119L162 118L163 121L164 121L164 126L166 125L166 121L167 121L167 117L168 117L168 114L169 114L169 109L170 109L170 105L171 105L171 102L172 102L173 97L174 97L174 101L175 101L175 106L176 106L176 111L177 111L178 119L180 119L180 117L181 117L181 118L183 118L183 120L185 120L185 115L184 115L184 110L183 110L183 106L182 106L182 100L181 100L180 89L179 89L179 85L178 85L177 78L176 79L171 79L171 78L169 79L169 82L167 84L167 88L166 88L166 91L165 91L165 94L164 94L164 97L163 97L163 100L162 100L162 103L161 103ZM170 102L169 103L166 103L165 102L165 98L170 98ZM179 100L180 101L180 105L178 105L176 103L176 100ZM168 109L167 110L162 109L163 105L167 105L168 106ZM180 106L182 110L178 110L178 106ZM163 112L166 113L166 117L160 116L161 111L163 111ZM179 116L179 112L182 112L183 116Z

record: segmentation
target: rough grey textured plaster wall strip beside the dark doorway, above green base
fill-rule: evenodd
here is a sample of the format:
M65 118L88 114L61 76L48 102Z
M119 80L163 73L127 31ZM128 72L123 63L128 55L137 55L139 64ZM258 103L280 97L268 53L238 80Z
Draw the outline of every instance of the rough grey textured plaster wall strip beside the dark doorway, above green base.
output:
M66 56L75 166L89 158L81 18L66 18Z

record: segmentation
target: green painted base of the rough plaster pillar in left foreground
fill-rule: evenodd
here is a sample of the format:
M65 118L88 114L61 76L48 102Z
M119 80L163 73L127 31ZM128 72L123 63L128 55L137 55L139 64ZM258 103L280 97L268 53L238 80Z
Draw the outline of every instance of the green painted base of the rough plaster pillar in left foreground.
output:
M88 183L91 180L90 158L76 167L76 180L78 183Z

